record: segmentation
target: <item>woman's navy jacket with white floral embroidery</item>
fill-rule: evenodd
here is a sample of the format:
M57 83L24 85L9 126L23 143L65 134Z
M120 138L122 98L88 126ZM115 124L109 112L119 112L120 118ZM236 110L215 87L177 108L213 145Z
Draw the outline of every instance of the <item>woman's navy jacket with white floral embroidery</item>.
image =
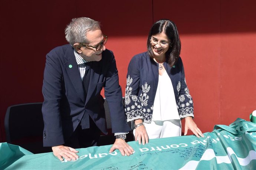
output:
M173 67L166 62L163 65L173 84L180 119L194 117L193 100L186 84L181 58L178 58ZM137 54L131 59L125 88L127 122L135 119L151 122L158 75L158 63L150 58L147 52Z

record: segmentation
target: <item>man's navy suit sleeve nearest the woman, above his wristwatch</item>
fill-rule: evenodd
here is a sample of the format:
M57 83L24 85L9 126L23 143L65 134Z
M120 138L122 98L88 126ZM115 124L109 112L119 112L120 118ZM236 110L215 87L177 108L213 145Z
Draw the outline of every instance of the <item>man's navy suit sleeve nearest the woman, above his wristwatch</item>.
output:
M116 61L112 52L107 62L108 70L105 78L104 94L109 106L112 133L129 132L131 128L129 128L129 125L125 121L124 106L122 104L122 89L119 85Z

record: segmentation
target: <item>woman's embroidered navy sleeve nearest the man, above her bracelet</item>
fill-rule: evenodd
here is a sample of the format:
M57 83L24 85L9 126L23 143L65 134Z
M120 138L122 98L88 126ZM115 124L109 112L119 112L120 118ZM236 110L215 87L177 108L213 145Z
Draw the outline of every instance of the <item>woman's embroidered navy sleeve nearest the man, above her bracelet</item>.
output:
M135 119L143 119L141 103L138 98L140 91L140 66L138 57L133 57L128 66L125 88L125 113L127 122Z

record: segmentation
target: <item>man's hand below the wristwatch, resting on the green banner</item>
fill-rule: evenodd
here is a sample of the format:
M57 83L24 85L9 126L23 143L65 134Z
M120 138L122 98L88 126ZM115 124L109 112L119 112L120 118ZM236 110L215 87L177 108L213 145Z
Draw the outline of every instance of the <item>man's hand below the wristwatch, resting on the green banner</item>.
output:
M116 139L115 143L110 148L109 153L114 152L115 149L118 149L121 152L122 156L125 156L125 154L127 156L130 156L134 152L132 147L128 145L128 143L126 143L123 139Z

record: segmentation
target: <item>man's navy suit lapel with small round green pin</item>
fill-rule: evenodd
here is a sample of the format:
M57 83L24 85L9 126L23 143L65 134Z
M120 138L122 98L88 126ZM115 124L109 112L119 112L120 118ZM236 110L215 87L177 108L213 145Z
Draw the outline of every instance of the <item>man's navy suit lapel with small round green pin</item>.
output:
M78 65L76 62L73 47L70 46L70 48L67 49L65 58L66 58L65 69L68 73L70 81L72 82L72 85L74 86L76 92L78 93L78 96L82 99L83 102L85 102L85 96L83 93L83 84L82 84L81 76L79 74Z

